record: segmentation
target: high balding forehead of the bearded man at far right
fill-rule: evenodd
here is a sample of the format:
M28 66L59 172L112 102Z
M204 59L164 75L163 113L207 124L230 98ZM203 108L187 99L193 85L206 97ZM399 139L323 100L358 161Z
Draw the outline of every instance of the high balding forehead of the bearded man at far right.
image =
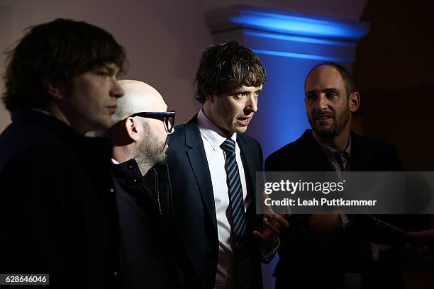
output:
M327 65L317 67L306 79L305 91L321 91L323 89L344 89L340 73L335 67Z

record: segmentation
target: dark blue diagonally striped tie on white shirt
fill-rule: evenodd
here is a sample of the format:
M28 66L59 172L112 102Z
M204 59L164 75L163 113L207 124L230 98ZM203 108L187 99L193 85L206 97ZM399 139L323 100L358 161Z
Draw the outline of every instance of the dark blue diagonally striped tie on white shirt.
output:
M252 261L247 249L247 225L244 212L243 188L235 158L235 141L228 138L220 146L226 154L226 181L232 208L235 282L238 289L252 288Z

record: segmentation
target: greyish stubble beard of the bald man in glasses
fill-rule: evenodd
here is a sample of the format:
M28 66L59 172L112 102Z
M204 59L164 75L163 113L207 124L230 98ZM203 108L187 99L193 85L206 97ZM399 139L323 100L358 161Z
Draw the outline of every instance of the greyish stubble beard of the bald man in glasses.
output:
M167 141L169 136L167 135L166 140L162 142L155 135L152 135L148 125L143 124L143 130L145 135L144 140L140 143L137 149L137 157L135 161L137 162L142 174L146 174L152 166L157 164L165 164L167 158Z

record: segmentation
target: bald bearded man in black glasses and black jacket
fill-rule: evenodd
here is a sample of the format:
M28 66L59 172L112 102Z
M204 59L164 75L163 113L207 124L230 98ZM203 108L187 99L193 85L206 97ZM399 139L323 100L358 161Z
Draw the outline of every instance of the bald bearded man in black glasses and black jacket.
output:
M183 288L175 261L172 191L167 140L174 111L141 81L119 81L118 102L108 135L113 141L113 177L121 234L123 288Z

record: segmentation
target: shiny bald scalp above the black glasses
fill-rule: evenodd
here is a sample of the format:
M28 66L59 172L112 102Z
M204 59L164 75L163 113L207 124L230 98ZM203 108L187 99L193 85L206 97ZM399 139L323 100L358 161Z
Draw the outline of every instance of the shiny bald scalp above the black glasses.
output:
M124 94L118 99L118 109L113 115L113 123L143 111L167 111L161 94L149 84L138 80L120 80Z

